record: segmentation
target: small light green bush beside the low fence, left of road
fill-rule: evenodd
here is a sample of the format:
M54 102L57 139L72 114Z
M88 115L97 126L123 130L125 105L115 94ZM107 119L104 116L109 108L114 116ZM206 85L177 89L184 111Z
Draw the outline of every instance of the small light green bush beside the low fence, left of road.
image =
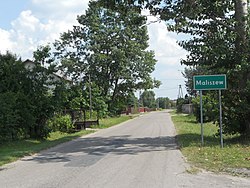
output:
M56 115L48 121L48 126L55 132L71 133L74 131L70 115Z

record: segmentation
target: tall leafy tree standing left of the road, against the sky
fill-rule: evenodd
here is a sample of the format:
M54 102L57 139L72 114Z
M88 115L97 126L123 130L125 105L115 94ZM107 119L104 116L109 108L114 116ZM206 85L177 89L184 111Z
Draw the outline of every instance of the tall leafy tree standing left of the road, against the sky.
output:
M77 20L55 43L57 58L71 77L95 83L110 110L137 89L159 86L150 76L156 60L147 51L146 18L135 8L114 11L90 1Z

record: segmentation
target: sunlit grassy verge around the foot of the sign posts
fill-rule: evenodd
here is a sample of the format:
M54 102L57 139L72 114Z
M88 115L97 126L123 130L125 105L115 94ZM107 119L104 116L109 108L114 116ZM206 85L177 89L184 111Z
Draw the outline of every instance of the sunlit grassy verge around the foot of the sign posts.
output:
M204 124L204 146L201 147L200 124L193 116L173 115L172 120L178 133L178 142L189 163L198 168L214 172L228 172L250 176L249 141L237 136L224 136L224 148L216 136L218 127Z

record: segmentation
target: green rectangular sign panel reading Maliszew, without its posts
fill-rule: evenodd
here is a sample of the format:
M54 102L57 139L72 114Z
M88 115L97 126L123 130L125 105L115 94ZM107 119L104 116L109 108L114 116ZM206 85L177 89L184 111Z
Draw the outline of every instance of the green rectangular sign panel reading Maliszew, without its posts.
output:
M199 75L193 77L194 90L227 89L226 75Z

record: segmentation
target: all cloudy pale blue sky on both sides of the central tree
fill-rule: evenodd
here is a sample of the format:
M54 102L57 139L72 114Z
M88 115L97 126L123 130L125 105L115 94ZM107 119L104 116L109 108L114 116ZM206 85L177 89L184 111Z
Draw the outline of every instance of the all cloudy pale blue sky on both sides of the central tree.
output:
M52 44L60 34L77 24L76 17L85 13L89 0L0 0L0 53L10 51L22 58L32 59L39 45ZM144 12L148 15L147 12ZM149 22L156 20L149 16ZM177 44L184 36L168 32L164 22L147 25L149 50L157 60L152 77L162 85L154 89L157 97L176 99L186 94L180 64L187 52Z

